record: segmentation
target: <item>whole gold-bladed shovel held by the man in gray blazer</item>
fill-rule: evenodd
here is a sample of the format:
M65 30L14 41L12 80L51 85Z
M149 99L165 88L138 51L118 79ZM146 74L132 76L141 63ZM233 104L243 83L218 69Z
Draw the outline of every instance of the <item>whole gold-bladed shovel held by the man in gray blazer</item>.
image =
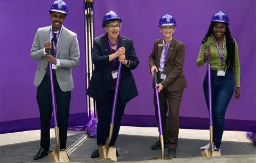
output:
M51 55L51 49L47 49L48 54ZM51 93L52 93L52 108L53 108L53 118L54 118L54 131L55 131L55 139L56 139L56 148L54 151L49 151L48 155L50 157L51 162L69 162L68 153L66 150L59 151L59 127L57 124L57 116L56 116L56 102L55 102L55 93L54 93L54 85L53 85L53 77L52 77L52 64L49 62L49 71L50 71L50 82L51 82Z

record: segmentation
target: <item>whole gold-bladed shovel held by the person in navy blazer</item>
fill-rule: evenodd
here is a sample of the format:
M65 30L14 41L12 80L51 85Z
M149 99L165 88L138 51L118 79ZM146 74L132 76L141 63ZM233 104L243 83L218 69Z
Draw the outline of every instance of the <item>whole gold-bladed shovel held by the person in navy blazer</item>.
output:
M125 46L125 39L122 40L122 46ZM117 48L117 47L116 47ZM110 141L112 139L113 129L114 129L114 123L115 123L115 112L116 112L116 100L117 100L117 94L118 94L118 88L119 88L119 79L121 74L121 68L122 68L122 62L119 62L118 72L117 72L117 80L116 80L116 90L115 90L115 96L114 96L114 104L111 114L111 123L109 128L109 135L108 135L108 142L105 145L99 145L99 152L100 152L100 159L110 158L111 160L117 161L116 157L116 147L111 146L109 147Z

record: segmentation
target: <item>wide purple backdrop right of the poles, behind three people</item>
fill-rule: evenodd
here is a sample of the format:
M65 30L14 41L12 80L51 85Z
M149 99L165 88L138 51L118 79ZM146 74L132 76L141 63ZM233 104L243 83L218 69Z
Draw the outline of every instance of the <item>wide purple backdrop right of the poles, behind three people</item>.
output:
M231 99L226 114L225 130L256 132L255 114L255 0L204 1L190 0L157 3L149 1L93 1L94 37L104 33L101 27L105 13L114 10L122 18L121 35L134 41L140 65L133 71L139 96L126 107L122 124L129 126L157 126L154 116L152 76L148 57L155 39L162 38L158 21L165 13L172 14L178 26L174 36L186 44L184 64L188 88L185 89L180 108L180 127L209 129L209 114L204 95L203 79L207 70L196 66L201 41L209 28L211 18L219 11L230 19L231 35L236 39L241 63L241 97ZM230 4L233 6L230 7ZM250 23L245 23L250 21ZM241 23L242 22L242 23ZM249 79L250 78L250 79ZM132 119L132 121L131 121Z

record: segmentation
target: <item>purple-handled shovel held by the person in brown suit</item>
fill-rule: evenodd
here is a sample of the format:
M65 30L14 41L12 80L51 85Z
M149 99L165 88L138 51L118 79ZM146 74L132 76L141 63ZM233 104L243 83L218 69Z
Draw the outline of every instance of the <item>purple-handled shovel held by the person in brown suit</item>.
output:
M157 85L157 72L154 70L154 82L155 86ZM163 128L162 128L162 119L161 119L161 111L160 111L160 104L159 104L159 97L158 97L158 88L155 88L156 91L156 102L157 102L157 111L158 111L158 121L159 121L159 134L160 134L160 142L161 142L161 151L162 151L162 160L164 160L164 135L163 135ZM154 156L154 160L157 160L158 157Z

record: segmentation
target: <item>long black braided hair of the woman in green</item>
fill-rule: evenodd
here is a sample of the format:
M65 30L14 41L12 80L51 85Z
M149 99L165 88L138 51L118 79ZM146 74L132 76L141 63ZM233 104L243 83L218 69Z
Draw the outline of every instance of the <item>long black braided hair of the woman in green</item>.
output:
M207 41L208 37L214 35L213 33L213 27L215 25L215 22L212 22L210 24L210 27L204 36L204 39L202 40L201 44L204 44L205 41ZM226 65L224 70L233 70L234 64L235 64L235 41L231 37L230 29L228 25L226 24L226 32L224 34L226 36L226 46L227 46L227 59L226 59Z

